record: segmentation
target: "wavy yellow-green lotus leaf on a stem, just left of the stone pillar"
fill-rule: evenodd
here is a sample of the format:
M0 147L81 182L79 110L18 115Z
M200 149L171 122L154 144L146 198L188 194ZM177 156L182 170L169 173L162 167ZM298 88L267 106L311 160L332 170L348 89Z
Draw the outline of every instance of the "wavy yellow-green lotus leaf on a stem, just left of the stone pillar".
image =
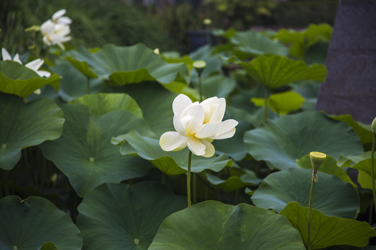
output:
M325 81L324 65L307 65L284 56L259 56L250 62L238 63L258 83L268 89L285 86L294 81L317 80Z

